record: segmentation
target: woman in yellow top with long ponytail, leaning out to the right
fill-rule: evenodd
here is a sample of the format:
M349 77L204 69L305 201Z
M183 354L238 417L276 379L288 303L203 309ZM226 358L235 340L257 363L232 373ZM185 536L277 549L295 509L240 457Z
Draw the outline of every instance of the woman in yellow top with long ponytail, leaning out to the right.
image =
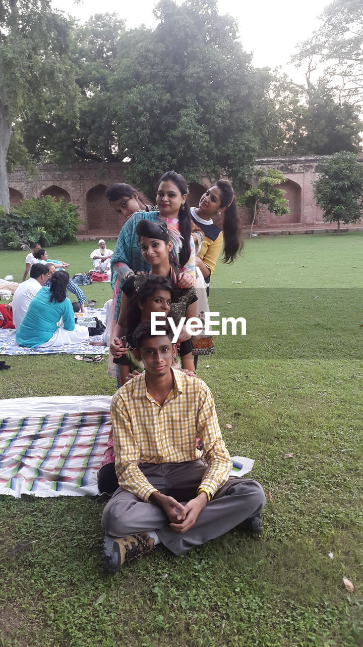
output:
M223 214L223 231L213 223L213 217ZM199 206L191 208L192 221L198 225L205 236L196 256L196 265L200 268L207 291L211 274L223 246L222 263L233 263L244 247L242 223L237 212L236 199L231 182L218 180L201 197ZM223 245L224 239L224 245Z

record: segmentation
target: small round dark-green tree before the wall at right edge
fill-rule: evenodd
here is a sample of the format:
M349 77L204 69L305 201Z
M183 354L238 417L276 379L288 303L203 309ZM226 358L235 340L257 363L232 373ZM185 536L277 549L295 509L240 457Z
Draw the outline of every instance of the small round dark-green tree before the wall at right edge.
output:
M363 164L354 153L335 153L318 167L319 177L313 182L316 204L324 212L327 223L356 223L363 209Z

